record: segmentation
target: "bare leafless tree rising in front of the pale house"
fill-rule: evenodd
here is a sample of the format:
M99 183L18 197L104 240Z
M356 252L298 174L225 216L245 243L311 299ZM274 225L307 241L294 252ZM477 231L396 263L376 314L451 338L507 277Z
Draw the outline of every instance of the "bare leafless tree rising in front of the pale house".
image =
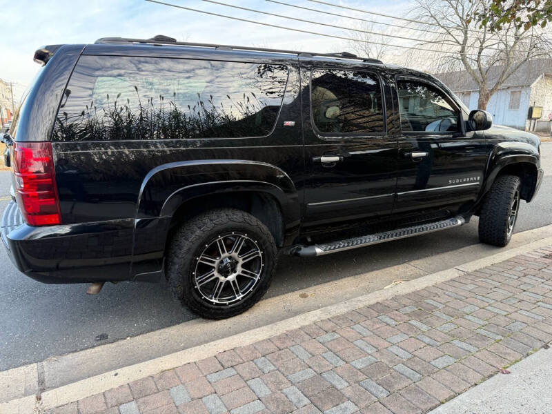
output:
M431 32L426 34L427 41L418 46L440 51L433 59L435 71L466 70L479 88L481 109L486 108L491 96L523 63L551 56L549 30L520 28L515 22L504 24L493 33L481 30L471 16L488 8L486 0L415 0L415 3L408 17L432 25L420 24L419 28Z

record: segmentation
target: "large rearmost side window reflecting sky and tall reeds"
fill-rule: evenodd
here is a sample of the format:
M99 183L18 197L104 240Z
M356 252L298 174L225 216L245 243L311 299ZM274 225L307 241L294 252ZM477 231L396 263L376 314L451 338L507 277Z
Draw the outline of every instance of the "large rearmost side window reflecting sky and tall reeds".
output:
M286 66L83 56L52 139L262 137L275 126Z

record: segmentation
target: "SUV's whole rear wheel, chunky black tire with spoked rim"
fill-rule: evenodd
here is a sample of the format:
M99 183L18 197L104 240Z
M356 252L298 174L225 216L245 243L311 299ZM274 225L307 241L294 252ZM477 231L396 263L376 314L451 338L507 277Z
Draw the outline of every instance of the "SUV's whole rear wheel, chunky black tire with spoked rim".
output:
M244 248L250 251L239 250ZM172 293L190 311L206 319L224 319L248 310L261 299L270 286L276 262L274 238L261 221L242 210L218 208L176 230L168 250L167 275ZM196 277L196 271L202 275ZM241 288L244 294L239 297ZM212 295L208 295L209 289Z

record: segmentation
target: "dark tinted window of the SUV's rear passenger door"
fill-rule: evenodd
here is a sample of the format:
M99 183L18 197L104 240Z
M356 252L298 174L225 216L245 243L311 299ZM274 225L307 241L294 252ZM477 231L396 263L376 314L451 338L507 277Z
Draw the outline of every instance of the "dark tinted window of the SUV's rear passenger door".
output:
M382 88L369 72L314 70L311 110L314 124L322 134L384 132Z

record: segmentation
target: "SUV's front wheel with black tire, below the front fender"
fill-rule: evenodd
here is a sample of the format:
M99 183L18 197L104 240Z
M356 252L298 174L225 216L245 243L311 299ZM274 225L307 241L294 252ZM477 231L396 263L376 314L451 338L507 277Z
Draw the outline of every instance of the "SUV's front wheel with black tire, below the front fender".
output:
M517 221L517 213L520 210L520 191L520 177L515 175L497 177L491 190L483 199L479 217L479 239L481 242L500 247L506 246L510 242ZM514 217L512 217L513 215Z

